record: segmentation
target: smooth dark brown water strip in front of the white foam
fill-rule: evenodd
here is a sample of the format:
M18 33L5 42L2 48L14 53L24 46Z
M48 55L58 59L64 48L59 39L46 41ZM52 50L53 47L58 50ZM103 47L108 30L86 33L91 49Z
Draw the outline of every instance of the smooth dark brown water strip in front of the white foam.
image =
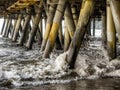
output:
M49 84L0 90L120 90L120 78L72 81L65 84Z

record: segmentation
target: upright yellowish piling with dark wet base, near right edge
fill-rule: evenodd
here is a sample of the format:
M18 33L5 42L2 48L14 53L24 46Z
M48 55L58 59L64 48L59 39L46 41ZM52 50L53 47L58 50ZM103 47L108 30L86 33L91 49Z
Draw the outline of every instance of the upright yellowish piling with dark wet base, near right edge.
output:
M107 1L107 50L109 59L116 57L116 33L109 0Z

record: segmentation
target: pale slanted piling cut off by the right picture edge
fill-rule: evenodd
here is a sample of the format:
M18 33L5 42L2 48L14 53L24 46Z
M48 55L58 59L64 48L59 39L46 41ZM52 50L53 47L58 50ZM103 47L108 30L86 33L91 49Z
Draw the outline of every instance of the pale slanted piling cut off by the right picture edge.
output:
M120 0L110 0L110 7L120 43Z

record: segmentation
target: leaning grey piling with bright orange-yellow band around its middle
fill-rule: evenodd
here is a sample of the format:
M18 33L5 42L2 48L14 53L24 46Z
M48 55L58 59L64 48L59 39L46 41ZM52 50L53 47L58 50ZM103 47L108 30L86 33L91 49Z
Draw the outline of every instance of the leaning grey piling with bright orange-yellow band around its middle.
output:
M57 11L55 13L53 24L52 24L51 31L49 34L49 38L47 41L47 45L46 45L46 48L45 48L45 51L43 54L44 58L49 57L49 54L53 50L55 40L56 40L56 37L58 34L59 26L62 21L62 17L64 15L65 7L66 7L66 0L59 0L58 6L57 6Z

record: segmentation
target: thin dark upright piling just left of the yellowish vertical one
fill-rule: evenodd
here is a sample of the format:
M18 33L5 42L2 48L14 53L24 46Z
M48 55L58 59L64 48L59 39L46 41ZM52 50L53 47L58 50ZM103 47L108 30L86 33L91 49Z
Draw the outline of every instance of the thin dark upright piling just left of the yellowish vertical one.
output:
M106 10L102 11L101 19L102 19L102 47L106 49L107 47Z

